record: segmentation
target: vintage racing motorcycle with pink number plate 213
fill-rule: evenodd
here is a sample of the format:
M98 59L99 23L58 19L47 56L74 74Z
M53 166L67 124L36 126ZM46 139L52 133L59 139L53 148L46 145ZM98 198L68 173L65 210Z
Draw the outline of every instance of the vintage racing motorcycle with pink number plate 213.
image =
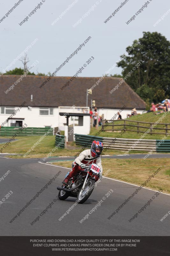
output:
M65 178L69 175L68 172ZM84 171L78 171L76 175L68 181L67 185L57 187L59 191L58 198L65 200L67 197L77 197L78 204L83 204L95 187L95 179L98 176L101 180L101 170L97 164L86 166Z

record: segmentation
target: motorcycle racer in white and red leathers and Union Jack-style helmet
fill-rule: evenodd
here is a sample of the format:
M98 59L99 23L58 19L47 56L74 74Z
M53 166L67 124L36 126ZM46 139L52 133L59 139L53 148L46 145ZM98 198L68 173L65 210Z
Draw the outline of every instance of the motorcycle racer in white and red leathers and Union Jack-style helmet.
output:
M86 149L80 153L80 155L73 161L72 170L68 176L62 181L64 185L67 185L68 181L73 178L78 171L83 171L86 165L97 164L100 167L99 173L100 179L102 178L103 168L101 165L101 153L103 150L103 143L97 140L93 140L91 149ZM96 181L99 177L96 175Z

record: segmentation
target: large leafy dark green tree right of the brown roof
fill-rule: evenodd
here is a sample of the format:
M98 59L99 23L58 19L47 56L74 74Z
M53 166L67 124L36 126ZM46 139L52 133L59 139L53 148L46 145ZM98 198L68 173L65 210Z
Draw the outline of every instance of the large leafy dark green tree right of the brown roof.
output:
M135 40L126 51L129 51L128 55L124 58L122 55L118 63L123 69L123 77L127 77L126 82L142 99L149 98L150 102L162 100L163 96L158 92L170 84L170 42L160 33L143 32L143 37ZM151 90L143 90L143 86Z

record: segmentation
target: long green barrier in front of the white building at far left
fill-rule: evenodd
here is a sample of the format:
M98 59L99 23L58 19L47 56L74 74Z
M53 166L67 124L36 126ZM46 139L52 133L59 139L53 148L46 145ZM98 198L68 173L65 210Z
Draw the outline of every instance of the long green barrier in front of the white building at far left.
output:
M53 130L49 131L49 127L45 128L37 128L37 127L23 127L24 129L20 129L21 127L1 127L0 136L35 136L35 135L53 135Z

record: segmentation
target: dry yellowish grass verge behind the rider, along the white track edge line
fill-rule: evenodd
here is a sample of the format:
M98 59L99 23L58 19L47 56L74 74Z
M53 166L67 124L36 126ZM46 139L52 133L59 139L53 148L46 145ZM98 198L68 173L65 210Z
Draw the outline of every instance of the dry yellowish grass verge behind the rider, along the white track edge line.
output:
M72 161L52 163L71 168ZM164 193L170 194L170 166L169 158L163 159L102 159L103 175L108 169L111 171L106 177L126 181L141 186L156 170L145 188L154 190L162 189Z

